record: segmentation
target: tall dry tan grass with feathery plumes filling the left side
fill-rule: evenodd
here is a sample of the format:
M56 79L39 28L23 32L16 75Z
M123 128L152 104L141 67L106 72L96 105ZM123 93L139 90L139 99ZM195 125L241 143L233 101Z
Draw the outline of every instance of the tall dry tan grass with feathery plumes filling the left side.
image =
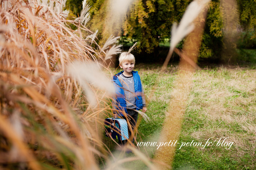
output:
M113 92L104 61L120 49L115 37L97 45L86 1L74 21L65 3L0 1L0 168L99 169L111 154L100 139Z

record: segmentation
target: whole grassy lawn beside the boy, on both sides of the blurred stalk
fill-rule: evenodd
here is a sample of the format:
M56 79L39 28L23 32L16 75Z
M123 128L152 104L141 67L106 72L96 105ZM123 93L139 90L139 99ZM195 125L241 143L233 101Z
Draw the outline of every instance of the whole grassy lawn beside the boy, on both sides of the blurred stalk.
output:
M137 140L159 142L165 114L172 104L177 68L169 67L165 73L160 73L157 65L136 68L147 96L147 115L151 118L151 122L139 123ZM172 139L177 140L173 169L256 169L255 78L256 70L252 68L205 68L193 75L180 138ZM181 147L182 142L192 141L190 146ZM207 141L212 143L203 148ZM193 147L199 142L201 147ZM157 147L139 149L154 158ZM146 169L138 161L132 166L125 164L130 168L136 166Z

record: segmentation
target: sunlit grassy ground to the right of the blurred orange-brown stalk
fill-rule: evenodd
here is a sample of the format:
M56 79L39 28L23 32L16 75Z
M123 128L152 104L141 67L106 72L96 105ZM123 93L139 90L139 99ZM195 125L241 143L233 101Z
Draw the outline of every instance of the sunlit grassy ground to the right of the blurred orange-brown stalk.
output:
M177 149L174 169L256 169L255 78L256 70L246 68L196 72L179 141L217 141L204 149ZM234 142L230 149L217 146L222 137Z

